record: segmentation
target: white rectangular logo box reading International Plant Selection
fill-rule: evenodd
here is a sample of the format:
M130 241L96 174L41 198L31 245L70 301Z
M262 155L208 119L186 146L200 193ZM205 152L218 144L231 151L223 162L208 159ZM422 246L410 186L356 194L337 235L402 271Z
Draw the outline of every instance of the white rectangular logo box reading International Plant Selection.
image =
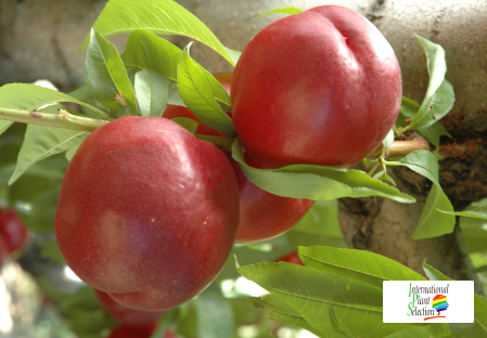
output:
M384 281L383 288L384 323L474 322L473 281Z

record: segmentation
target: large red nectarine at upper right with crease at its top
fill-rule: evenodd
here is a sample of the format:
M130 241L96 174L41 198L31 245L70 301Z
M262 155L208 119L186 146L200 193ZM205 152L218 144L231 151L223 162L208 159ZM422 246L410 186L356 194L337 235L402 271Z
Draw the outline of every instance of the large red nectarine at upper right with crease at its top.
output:
M387 135L402 94L387 40L338 5L264 28L240 56L231 91L235 130L264 168L359 162Z

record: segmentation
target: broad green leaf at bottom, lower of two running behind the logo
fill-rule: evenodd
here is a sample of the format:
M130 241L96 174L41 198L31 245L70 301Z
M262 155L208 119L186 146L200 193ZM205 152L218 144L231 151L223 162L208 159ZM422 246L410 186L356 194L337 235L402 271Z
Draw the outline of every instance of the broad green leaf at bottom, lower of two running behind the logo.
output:
M384 324L382 288L358 280L291 263L246 265L238 271L323 333L381 338L411 324ZM339 329L341 332L337 332Z

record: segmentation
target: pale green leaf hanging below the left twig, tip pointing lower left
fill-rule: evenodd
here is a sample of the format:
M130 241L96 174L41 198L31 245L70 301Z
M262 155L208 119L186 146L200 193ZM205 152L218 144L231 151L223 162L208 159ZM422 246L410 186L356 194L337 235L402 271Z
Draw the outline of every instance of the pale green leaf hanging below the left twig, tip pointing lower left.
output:
M13 184L30 166L49 156L66 152L87 134L89 134L87 131L28 125L15 172L10 178L9 185Z

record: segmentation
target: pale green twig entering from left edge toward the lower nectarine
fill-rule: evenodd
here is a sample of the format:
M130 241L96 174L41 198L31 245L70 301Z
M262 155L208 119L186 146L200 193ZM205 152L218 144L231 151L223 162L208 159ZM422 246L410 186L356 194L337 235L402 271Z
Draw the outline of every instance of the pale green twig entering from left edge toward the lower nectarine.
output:
M84 131L93 131L108 122L107 120L76 116L62 108L57 109L57 114L50 114L0 107L0 120Z

